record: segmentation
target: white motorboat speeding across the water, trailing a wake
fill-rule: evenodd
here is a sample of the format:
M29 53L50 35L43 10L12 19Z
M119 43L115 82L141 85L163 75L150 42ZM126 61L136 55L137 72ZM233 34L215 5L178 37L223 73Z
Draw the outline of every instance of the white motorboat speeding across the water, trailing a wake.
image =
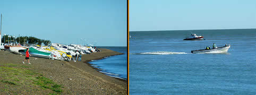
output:
M191 51L191 53L222 53L222 52L227 52L230 46L231 45L226 44L225 46L222 46L220 48L209 49L209 50L208 49L195 50L195 51Z

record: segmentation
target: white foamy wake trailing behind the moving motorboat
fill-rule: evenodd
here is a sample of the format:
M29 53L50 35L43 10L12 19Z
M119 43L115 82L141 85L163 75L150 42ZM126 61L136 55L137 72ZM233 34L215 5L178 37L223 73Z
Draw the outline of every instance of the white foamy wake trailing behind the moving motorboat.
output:
M157 52L143 52L143 53L130 53L130 54L154 54L154 55L168 55L168 54L188 54L188 53L185 53L185 52L157 51Z

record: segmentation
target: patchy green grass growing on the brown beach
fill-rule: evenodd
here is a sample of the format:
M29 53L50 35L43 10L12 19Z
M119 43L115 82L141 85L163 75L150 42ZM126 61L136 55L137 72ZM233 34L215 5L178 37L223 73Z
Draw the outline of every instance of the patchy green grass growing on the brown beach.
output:
M38 88L36 90L50 89L59 94L63 92L63 87L53 80L44 77L42 74L29 70L30 66L23 64L1 64L0 65L0 82L15 85L15 86L27 86L29 88ZM34 87L33 87L34 86ZM0 90L1 91L1 90ZM8 92L8 89L4 90Z

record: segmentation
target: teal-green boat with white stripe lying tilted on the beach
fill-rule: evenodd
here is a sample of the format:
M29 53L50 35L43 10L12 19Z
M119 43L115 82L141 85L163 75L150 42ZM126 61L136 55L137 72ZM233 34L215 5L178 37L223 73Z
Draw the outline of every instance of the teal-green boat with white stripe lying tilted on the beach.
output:
M25 55L27 49L24 50L19 50L19 52L23 55ZM51 53L49 52L44 52L44 51L39 51L33 47L29 48L29 54L38 58L46 58L46 59L50 59L51 58Z

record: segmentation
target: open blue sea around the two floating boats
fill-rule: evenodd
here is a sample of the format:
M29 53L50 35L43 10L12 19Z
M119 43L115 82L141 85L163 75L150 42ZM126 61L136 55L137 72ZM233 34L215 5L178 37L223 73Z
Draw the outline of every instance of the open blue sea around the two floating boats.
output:
M184 41L191 33L205 40ZM256 29L130 32L130 94L256 94ZM196 53L216 43L226 53Z

